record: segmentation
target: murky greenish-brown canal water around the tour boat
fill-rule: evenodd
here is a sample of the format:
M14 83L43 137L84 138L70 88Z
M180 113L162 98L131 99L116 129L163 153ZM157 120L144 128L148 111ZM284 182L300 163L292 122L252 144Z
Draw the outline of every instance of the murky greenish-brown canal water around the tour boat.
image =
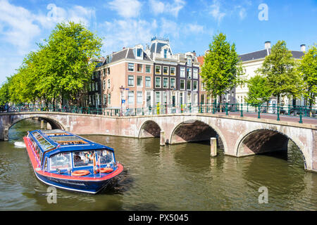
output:
M116 150L125 169L113 186L97 195L57 189L57 203L49 204L48 186L20 147L39 126L19 122L10 141L0 141L0 210L317 210L317 174L304 171L292 143L288 154L232 158L219 150L210 158L209 143L160 147L159 139L113 136L85 136ZM266 188L268 203L260 204Z

